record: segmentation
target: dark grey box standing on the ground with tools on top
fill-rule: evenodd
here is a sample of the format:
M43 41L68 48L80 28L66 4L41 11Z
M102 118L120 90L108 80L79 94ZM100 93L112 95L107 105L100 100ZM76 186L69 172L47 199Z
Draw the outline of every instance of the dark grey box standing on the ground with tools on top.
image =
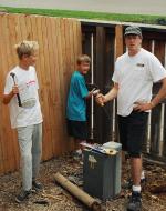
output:
M116 150L116 155L92 150L83 152L83 189L104 201L115 198L121 192L121 147Z

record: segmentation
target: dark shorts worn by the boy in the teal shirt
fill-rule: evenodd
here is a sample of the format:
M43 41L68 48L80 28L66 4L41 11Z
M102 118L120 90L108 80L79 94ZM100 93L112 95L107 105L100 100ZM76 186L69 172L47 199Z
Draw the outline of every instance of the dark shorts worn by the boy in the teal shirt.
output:
M87 123L86 121L68 120L68 133L75 139L87 139Z

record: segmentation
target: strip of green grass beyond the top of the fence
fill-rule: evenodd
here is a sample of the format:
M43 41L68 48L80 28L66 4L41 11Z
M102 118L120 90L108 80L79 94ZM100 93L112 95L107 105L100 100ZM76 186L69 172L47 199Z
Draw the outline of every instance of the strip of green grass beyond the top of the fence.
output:
M122 21L122 22L139 22L139 23L149 23L149 24L166 24L166 16L118 14L118 13L106 13L106 12L9 8L9 7L0 7L0 9L9 13L41 14L50 17L64 17L64 18L77 18L77 19Z

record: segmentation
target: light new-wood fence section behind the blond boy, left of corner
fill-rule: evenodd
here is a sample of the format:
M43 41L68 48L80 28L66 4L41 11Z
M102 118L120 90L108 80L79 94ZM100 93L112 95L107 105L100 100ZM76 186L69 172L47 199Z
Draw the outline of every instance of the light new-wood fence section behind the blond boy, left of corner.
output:
M81 23L73 19L24 14L0 14L0 94L7 72L18 62L14 44L37 40L40 46L37 73L44 118L43 160L73 148L65 129L69 80L82 51ZM0 101L0 173L19 168L17 133L10 127L9 110Z

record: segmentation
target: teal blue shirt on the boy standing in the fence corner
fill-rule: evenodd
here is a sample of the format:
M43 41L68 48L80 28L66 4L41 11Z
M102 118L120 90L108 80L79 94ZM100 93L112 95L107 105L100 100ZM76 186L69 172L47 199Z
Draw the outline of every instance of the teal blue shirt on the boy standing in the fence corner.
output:
M71 78L66 104L66 118L74 121L86 121L86 99L89 94L84 76L74 71Z

